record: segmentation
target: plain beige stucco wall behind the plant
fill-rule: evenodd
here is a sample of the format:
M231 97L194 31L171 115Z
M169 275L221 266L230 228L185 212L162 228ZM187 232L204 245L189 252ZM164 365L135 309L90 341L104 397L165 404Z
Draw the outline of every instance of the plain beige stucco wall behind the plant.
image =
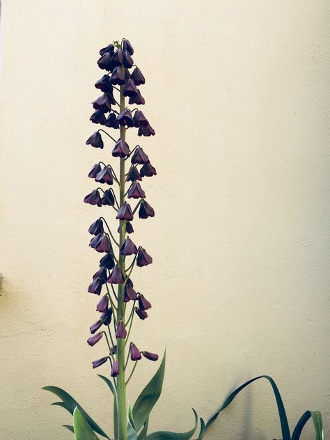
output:
M136 220L134 236L155 262L134 277L153 304L134 339L168 351L152 429L184 430L191 407L210 416L235 386L269 374L291 426L320 409L327 438L329 2L4 6L0 439L72 439L45 384L111 426L110 395L91 370L104 350L86 345L97 265L87 228L98 211L82 198L91 164L110 157L110 147L85 146L97 51L123 36L146 76L143 111L157 132L143 139L158 171L144 185L156 217ZM154 371L141 363L131 401ZM280 437L260 382L207 439Z

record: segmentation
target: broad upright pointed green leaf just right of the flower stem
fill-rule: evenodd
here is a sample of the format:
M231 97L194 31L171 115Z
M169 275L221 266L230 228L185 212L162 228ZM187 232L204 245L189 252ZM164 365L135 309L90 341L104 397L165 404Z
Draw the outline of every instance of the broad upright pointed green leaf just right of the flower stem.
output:
M134 404L132 412L137 432L139 432L139 430L141 430L141 427L143 427L144 423L149 417L150 411L155 406L155 403L162 393L165 373L165 359L166 352L164 353L162 363L160 364L155 376L152 377L152 379L150 380L146 388L143 389Z

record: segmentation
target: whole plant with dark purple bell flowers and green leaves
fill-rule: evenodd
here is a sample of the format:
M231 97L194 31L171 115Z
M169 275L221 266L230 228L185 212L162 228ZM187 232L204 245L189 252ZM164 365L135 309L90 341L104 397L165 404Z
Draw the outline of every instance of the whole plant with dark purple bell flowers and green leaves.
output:
M158 431L148 434L150 412L162 392L165 355L134 406L127 406L126 387L137 364L142 358L158 360L157 354L146 350L149 347L142 347L141 351L139 340L131 338L134 317L146 320L151 308L150 301L141 293L143 290L137 291L132 278L134 267L148 266L152 258L146 249L134 243L133 235L136 217L145 221L155 216L141 182L156 175L155 167L143 149L144 137L154 136L155 130L141 111L140 106L145 104L145 100L138 87L146 80L134 64L133 54L134 49L126 39L114 41L100 50L97 65L105 73L95 82L95 88L102 95L93 102L94 112L91 116L91 122L100 127L86 141L93 148L109 151L109 163L98 162L88 173L88 178L96 182L96 188L84 198L84 202L95 206L97 218L88 228L93 236L89 245L100 255L97 271L88 286L88 292L99 298L95 306L97 319L90 327L91 336L87 343L91 347L104 343L104 356L93 361L92 365L93 368L103 366L108 373L100 377L113 394L113 436L109 437L70 394L56 386L45 386L46 390L61 398L61 402L54 404L73 415L73 426L63 426L73 432L77 440L97 440L97 434L109 440L189 440L198 425L198 416L193 410L195 424L188 432ZM137 131L142 146L127 143L127 129ZM104 207L102 214L98 212L101 207ZM112 220L116 219L116 228L112 230L109 226L111 214ZM269 380L275 393L283 440L298 440L302 427L311 417L316 434L322 434L320 413L306 411L291 437L276 384L271 377L261 377ZM233 391L206 424L203 418L199 419L198 440L203 438L208 427L220 411L228 407L235 395L259 378L251 379ZM317 437L317 440L321 439Z

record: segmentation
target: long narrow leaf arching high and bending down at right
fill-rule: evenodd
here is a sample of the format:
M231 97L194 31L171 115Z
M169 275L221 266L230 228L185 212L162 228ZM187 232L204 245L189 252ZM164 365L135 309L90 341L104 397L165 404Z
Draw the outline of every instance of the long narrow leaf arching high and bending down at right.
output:
M235 391L233 391L233 393L230 393L230 395L228 395L228 398L226 398L225 402L223 403L222 407L207 422L205 429L207 430L210 427L210 425L212 425L212 423L217 419L217 417L219 416L221 411L223 411L223 409L228 407L230 402L232 402L234 400L236 395L240 391L242 391L242 389L244 389L246 386L251 384L251 382L254 382L257 379L262 379L262 378L267 379L270 382L270 384L272 385L272 388L273 388L273 391L274 391L274 395L275 395L275 398L276 398L276 403L277 403L277 408L278 408L278 415L280 416L280 421L281 421L282 438L283 438L283 440L290 440L291 439L291 437L290 437L290 429L289 429L289 424L288 424L288 418L287 418L286 413L285 413L285 408L284 408L283 400L281 398L281 394L278 391L278 388L277 388L274 380L272 379L272 377L269 377L269 376L258 376L258 377L255 377L254 379L251 379L248 382L245 382L245 384L239 386L237 389L235 389Z

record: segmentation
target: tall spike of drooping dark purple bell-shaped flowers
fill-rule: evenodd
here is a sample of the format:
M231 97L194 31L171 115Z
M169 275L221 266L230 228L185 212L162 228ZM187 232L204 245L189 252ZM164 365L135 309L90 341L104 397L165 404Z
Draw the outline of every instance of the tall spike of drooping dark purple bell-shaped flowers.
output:
M91 248L103 255L99 268L88 286L88 292L102 295L102 297L96 305L96 311L100 315L91 325L92 336L88 338L87 343L93 347L104 336L109 354L93 361L93 368L109 360L112 377L118 375L125 377L129 358L134 361L132 372L136 361L139 361L142 356L151 361L158 359L157 354L140 351L130 341L125 361L125 347L132 329L134 315L141 320L146 320L147 311L151 308L150 301L134 290L131 275L135 265L139 267L150 265L152 258L146 249L136 246L129 235L134 233L132 221L136 212L140 219L148 219L155 215L141 187L143 178L156 175L155 167L150 163L143 148L139 145L132 148L127 144L125 136L127 129L134 127L137 129L138 136L155 134L155 130L143 112L136 107L129 109L125 104L126 98L128 98L128 104L145 104L138 88L145 84L145 78L141 70L134 65L133 53L134 49L126 39L121 43L113 42L100 50L97 65L106 73L95 83L95 88L100 90L102 95L92 103L94 113L90 120L102 125L104 129L98 129L86 141L87 145L94 148L104 148L106 139L102 136L105 134L112 143L111 155L119 159L118 166L104 162L93 165L88 177L95 180L99 186L84 198L84 202L90 205L109 206L116 211L116 220L118 220L118 238L115 237L116 234L111 231L104 217L97 218L88 229L88 232L93 235L90 242ZM110 134L106 128L119 131L119 133L117 136ZM115 171L116 168L117 171ZM132 203L135 203L134 207ZM127 262L128 258L131 258L130 262Z

